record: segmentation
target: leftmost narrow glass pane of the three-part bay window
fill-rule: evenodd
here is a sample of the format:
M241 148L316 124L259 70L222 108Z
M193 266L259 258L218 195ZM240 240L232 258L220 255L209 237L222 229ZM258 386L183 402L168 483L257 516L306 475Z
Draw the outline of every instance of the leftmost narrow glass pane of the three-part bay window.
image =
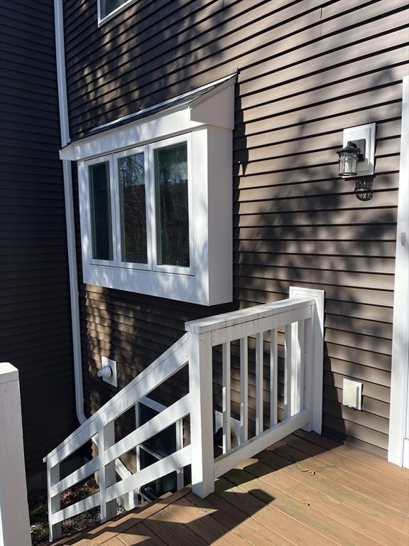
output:
M109 163L89 167L91 197L92 257L112 259L111 191Z

